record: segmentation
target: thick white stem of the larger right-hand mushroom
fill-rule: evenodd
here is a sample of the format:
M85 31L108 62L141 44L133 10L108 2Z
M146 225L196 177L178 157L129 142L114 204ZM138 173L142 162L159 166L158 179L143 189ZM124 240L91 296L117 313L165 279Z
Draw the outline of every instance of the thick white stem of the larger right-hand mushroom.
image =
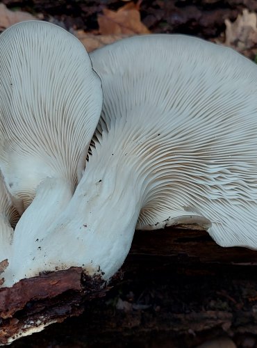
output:
M142 190L133 166L120 161L122 152L109 151L101 159L93 153L68 209L53 230L55 238L57 233L73 238L69 266L80 265L91 276L100 274L108 280L131 248ZM63 254L63 260L68 261L67 255Z

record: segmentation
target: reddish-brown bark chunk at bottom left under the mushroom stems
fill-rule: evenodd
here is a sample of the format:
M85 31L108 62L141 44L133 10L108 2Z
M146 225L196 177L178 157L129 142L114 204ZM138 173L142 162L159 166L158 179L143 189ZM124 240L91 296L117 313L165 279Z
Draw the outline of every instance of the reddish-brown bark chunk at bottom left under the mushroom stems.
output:
M107 289L107 288L106 288ZM84 301L103 296L103 280L79 267L22 279L0 289L0 345L39 332L83 312Z

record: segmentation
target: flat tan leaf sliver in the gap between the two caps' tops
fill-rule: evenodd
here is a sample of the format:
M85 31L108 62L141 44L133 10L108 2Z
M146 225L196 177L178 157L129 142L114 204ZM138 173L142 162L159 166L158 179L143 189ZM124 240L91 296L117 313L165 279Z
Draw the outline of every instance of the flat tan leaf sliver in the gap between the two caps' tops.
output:
M88 52L94 51L94 49L103 47L105 45L109 45L115 41L121 40L123 38L127 38L128 35L93 35L90 33L85 33L83 30L75 31L74 35L81 40L85 49Z

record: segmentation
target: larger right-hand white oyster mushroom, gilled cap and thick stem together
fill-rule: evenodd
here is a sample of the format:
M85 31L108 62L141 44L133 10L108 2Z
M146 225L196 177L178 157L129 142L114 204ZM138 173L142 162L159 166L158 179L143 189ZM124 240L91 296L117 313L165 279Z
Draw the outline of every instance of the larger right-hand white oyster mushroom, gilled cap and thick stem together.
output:
M82 266L108 280L135 228L208 228L257 248L257 68L183 35L128 38L93 52L103 111L74 196L17 279ZM28 271L30 269L30 271Z

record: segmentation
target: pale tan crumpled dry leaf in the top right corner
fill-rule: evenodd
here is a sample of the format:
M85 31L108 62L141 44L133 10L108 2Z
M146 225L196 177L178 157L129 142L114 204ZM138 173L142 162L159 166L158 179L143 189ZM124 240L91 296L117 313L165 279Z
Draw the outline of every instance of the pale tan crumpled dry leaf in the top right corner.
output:
M226 46L233 47L239 52L252 49L257 44L257 15L249 13L247 9L242 11L242 15L238 15L235 22L231 23L229 19L225 19L226 24Z

